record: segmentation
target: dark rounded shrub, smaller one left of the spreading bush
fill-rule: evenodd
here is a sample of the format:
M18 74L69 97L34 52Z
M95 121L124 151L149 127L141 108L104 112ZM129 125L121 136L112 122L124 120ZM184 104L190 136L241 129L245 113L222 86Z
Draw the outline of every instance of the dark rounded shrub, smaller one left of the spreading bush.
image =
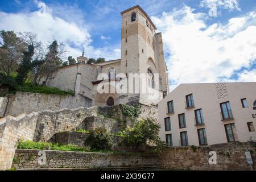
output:
M90 130L89 136L85 143L90 146L92 150L110 150L112 147L112 135L103 127L97 127L95 130Z

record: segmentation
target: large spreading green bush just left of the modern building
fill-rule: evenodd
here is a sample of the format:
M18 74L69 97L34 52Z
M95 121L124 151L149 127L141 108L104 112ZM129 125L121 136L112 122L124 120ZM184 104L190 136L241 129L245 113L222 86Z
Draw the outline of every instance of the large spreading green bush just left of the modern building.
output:
M159 138L160 125L153 119L147 118L136 121L133 127L127 127L118 133L123 137L123 142L134 147L141 147L146 144L156 146L156 150L163 147L163 142Z

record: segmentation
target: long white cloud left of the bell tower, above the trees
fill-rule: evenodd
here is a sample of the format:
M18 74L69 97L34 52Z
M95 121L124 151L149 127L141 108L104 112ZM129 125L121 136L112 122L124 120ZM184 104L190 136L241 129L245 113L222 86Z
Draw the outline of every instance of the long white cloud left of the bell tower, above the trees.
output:
M15 32L31 31L38 35L38 39L49 44L53 39L63 42L73 57L81 56L82 49L85 49L88 57L105 57L106 60L117 59L120 55L114 51L119 46L108 46L94 48L92 38L89 34L89 26L86 22L78 22L79 16L73 19L59 16L56 10L64 11L63 8L48 7L45 3L35 1L39 7L38 11L4 13L0 11L0 30L14 30ZM55 11L53 11L55 10ZM76 7L70 8L67 12L80 12ZM67 55L67 56L69 56Z

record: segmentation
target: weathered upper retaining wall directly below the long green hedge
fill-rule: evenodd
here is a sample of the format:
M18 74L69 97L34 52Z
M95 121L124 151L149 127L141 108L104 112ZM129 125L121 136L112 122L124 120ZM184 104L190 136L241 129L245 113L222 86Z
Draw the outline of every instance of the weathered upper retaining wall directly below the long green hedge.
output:
M59 110L64 108L90 107L92 100L80 94L61 96L56 94L16 92L7 114L16 116L41 110Z

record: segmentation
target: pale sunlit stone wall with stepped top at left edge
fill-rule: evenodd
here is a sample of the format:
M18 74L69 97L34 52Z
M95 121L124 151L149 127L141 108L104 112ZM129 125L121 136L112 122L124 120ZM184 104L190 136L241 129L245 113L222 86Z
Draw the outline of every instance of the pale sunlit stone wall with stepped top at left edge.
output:
M0 119L0 170L11 168L19 139L33 140L38 113Z

